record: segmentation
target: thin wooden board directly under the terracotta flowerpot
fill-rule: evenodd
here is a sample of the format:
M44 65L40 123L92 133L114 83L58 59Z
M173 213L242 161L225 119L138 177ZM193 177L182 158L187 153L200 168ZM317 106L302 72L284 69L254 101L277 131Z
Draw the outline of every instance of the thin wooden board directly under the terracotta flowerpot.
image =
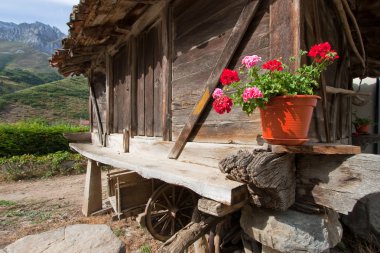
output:
M322 154L322 155L356 155L361 153L359 146L339 145L333 143L313 143L302 146L271 145L273 153Z

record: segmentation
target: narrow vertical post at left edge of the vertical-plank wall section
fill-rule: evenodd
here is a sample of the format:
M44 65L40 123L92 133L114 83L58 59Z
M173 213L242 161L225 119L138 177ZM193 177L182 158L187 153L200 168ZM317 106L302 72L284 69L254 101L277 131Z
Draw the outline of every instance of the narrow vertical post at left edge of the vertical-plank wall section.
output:
M106 133L113 132L113 64L112 56L106 54Z

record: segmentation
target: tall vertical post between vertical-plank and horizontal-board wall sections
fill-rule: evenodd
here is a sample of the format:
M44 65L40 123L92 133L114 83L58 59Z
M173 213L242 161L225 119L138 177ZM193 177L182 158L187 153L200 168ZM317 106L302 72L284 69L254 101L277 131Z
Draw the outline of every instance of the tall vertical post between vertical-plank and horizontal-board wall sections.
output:
M162 20L162 136L171 140L171 97L172 97L172 9L167 5L161 14Z

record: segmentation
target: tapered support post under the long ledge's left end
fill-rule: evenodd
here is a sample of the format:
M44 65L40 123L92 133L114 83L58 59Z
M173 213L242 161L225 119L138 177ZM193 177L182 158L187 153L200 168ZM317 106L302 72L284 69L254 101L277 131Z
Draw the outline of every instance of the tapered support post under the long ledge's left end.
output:
M101 170L93 160L87 162L86 182L84 186L84 201L82 213L90 216L102 209Z

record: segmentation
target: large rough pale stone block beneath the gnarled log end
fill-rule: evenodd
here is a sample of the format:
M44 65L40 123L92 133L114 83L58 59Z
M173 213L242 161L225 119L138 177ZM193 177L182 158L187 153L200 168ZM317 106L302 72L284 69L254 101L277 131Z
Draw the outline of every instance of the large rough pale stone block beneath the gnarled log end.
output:
M342 238L338 214L311 215L245 206L240 225L251 238L280 252L320 253Z

